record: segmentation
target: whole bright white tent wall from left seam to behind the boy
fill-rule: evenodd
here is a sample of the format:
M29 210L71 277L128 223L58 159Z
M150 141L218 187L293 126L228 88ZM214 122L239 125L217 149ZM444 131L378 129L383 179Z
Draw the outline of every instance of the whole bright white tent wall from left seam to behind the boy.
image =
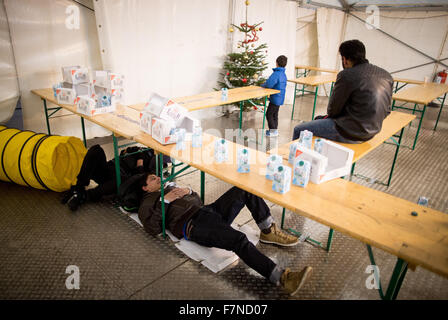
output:
M243 0L99 0L94 6L103 65L125 75L126 104L144 102L151 92L180 97L216 88L228 49L237 50L240 40L237 30L229 35L230 23L245 21L246 10ZM260 43L269 46L270 67L278 55L294 57L290 26L295 25L295 7L285 0L252 0L249 5L249 23L264 21ZM201 110L195 116L215 117L216 112Z

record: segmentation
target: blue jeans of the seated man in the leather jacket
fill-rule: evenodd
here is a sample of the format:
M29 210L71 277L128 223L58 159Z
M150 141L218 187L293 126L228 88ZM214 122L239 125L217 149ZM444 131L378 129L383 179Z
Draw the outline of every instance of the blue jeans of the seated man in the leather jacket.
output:
M354 141L344 138L340 135L338 130L336 129L336 124L333 119L318 119L309 122L305 122L297 125L294 128L294 134L292 136L292 140L297 140L300 137L300 132L303 130L308 130L313 133L314 136L318 136L320 138L333 140L342 143L361 143L362 141Z

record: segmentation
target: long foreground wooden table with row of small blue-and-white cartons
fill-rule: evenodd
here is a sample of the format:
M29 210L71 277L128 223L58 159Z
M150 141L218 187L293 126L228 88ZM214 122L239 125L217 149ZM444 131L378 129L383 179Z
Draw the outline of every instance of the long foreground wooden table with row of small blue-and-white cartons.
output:
M146 133L134 138L160 155L170 155L203 173L366 243L372 264L375 262L370 246L397 256L388 291L386 294L380 291L382 298L396 298L408 264L448 276L448 215L442 212L343 179L319 185L310 183L306 188L292 185L282 195L274 192L272 181L265 178L267 154L251 149L250 172L238 173L236 154L241 146L229 141L229 161L214 163L216 137L205 133L202 148L192 148L187 142L184 151L177 151L174 145L162 146Z

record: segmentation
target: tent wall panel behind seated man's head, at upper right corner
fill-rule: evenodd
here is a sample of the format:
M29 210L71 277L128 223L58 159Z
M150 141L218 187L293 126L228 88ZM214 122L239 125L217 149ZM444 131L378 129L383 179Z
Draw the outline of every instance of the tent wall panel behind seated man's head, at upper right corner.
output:
M364 12L353 12L363 20L369 16ZM448 56L448 48L442 49L448 30L446 12L437 11L381 11L379 25L381 30L394 36L425 54L438 58ZM371 15L371 14L370 14ZM438 17L437 16L441 16ZM369 30L366 24L352 16L347 20L345 40L359 39L366 46L367 58L389 72L394 72L420 64L431 62L398 41L382 34L378 30ZM442 52L442 54L440 54ZM448 60L444 61L448 64ZM439 69L445 69L440 67ZM434 73L434 64L394 73L393 76L430 81Z

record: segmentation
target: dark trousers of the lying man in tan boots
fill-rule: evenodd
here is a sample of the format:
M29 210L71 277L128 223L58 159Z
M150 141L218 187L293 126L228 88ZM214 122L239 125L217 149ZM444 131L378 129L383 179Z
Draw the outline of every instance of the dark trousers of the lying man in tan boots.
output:
M233 251L249 267L269 279L276 264L258 251L244 233L230 226L244 206L257 224L271 217L263 199L233 187L193 216L189 240L202 246Z

